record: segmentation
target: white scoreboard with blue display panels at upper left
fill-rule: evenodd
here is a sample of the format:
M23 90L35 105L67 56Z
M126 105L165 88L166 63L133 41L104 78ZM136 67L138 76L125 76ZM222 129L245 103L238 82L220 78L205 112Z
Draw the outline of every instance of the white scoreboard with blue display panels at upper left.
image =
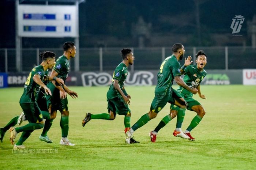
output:
M20 37L78 37L75 5L18 5Z

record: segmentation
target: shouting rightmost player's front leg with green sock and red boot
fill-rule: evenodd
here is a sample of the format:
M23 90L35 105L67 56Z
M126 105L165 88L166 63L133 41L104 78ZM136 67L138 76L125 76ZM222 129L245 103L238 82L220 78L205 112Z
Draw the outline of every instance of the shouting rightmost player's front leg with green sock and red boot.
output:
M190 137L190 140L195 140L195 138L191 136L190 132L192 131L192 129L194 129L200 123L200 121L202 120L202 118L204 117L206 112L205 112L203 106L200 105L200 103L197 102L196 100L194 100L191 103L192 103L191 105L193 105L193 106L189 107L188 109L196 112L197 115L192 119L187 130L184 133Z

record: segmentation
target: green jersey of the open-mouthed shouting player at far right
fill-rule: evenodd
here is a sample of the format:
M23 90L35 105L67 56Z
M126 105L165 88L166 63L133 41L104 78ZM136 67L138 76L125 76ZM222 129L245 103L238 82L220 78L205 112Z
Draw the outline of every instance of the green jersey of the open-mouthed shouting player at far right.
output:
M189 86L189 87L197 87L202 80L205 78L207 72L203 69L202 71L199 71L197 68L197 65L189 65L184 69L184 78L183 81ZM184 94L184 97L193 97L193 93L188 91L187 89L183 87L179 87L177 89L178 92L181 92Z

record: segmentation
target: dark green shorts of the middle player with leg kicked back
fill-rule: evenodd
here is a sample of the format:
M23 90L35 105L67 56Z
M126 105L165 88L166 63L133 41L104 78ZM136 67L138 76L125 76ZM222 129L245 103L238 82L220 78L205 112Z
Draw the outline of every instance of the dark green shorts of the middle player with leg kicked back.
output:
M115 97L113 99L107 99L108 101L108 112L112 111L115 116L116 113L119 115L127 115L131 113L129 106L124 102L123 97Z

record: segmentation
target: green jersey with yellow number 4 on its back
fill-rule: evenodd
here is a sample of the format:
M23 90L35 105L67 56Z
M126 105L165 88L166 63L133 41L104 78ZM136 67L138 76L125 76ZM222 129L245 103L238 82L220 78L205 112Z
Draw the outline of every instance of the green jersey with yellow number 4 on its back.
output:
M170 95L172 93L172 85L175 76L181 76L180 63L177 58L172 55L165 58L160 66L160 70L157 74L155 93Z

